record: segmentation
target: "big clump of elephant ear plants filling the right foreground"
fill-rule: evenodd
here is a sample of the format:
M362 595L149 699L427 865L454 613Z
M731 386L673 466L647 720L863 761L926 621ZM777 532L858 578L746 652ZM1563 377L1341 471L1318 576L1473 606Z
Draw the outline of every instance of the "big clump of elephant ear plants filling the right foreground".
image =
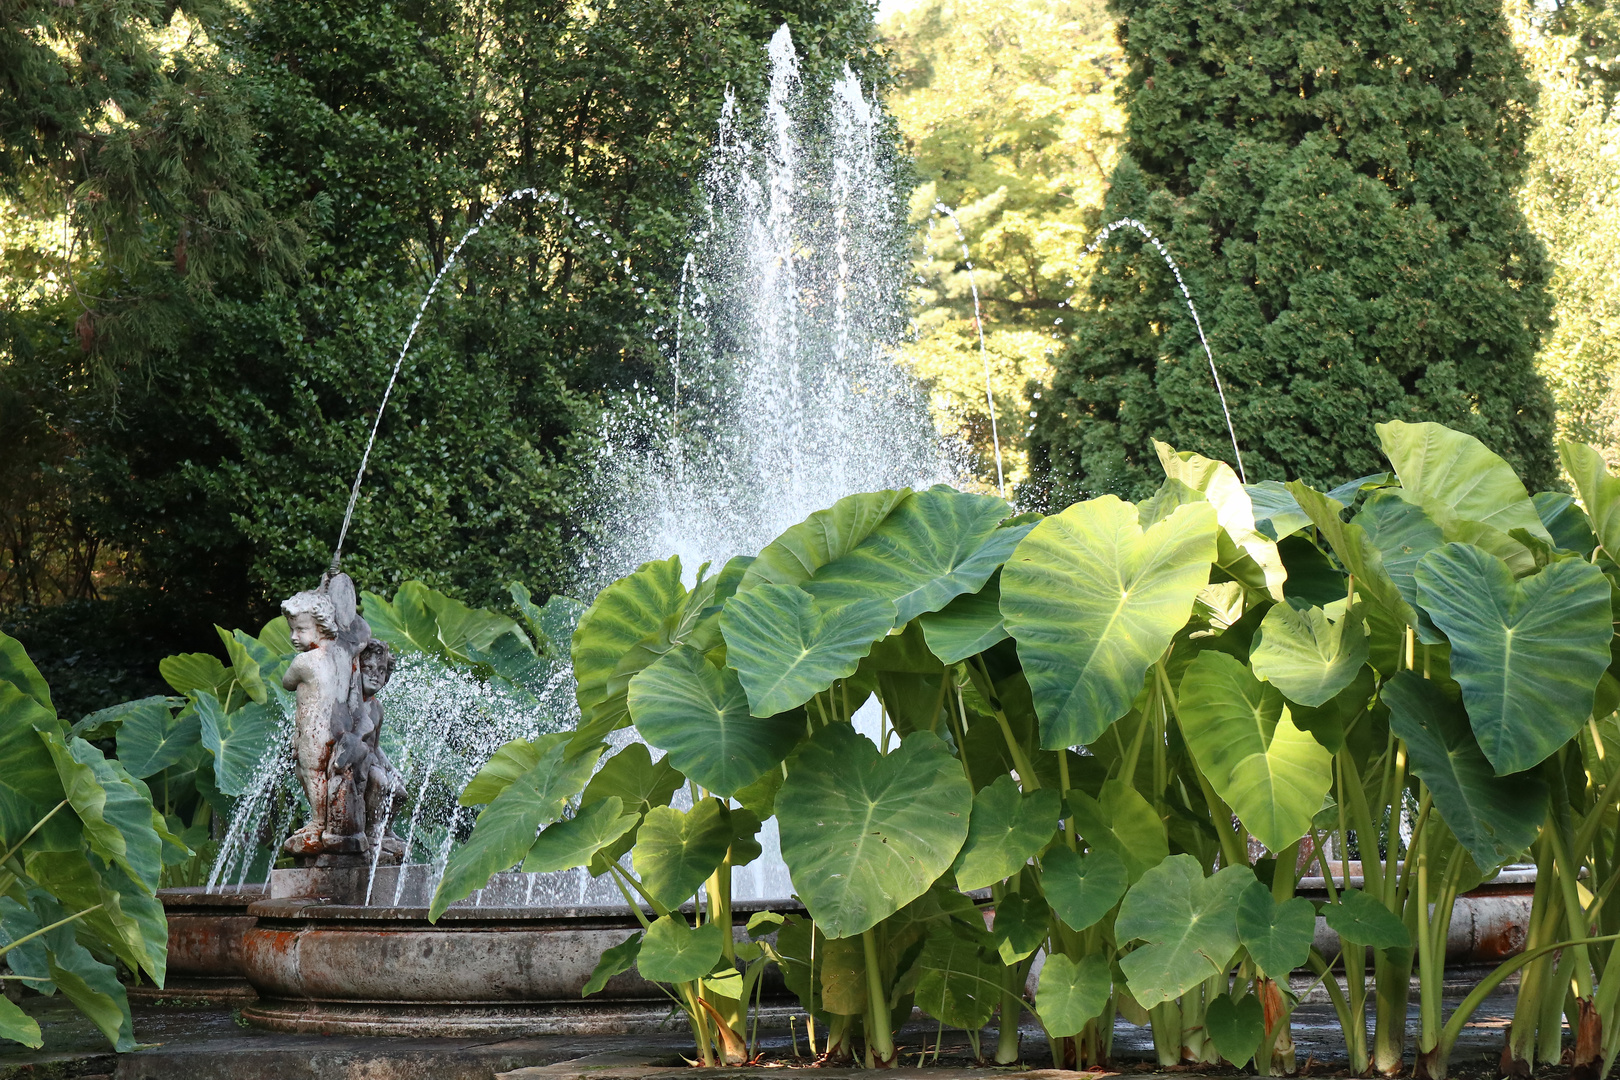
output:
M1029 1012L1063 1067L1105 1064L1124 1017L1162 1065L1290 1074L1309 968L1353 1072L1395 1074L1416 967L1421 1075L1523 970L1508 1065L1562 1052L1573 984L1596 1077L1620 1043L1620 479L1567 447L1583 510L1455 431L1379 436L1392 471L1330 492L1160 445L1136 505L868 492L690 588L643 565L573 633L578 730L463 793L484 810L433 915L514 865L611 874L645 929L586 993L638 968L705 1064L753 1054L776 963L833 1059L894 1064L922 1010L975 1048L995 1023L1011 1064ZM771 816L805 915L739 933L731 873ZM1526 952L1443 1017L1453 900L1526 857Z

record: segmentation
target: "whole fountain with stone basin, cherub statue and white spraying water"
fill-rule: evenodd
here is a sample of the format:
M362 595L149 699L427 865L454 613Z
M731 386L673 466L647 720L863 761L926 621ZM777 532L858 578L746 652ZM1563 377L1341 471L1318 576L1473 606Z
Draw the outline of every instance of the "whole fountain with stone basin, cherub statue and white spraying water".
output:
M880 136L881 108L847 70L825 97L800 84L786 26L770 42L763 115L748 120L727 96L703 178L703 222L679 283L667 350L674 395L659 402L646 389L603 418L608 449L591 510L614 528L582 567L582 594L651 557L676 552L695 570L757 551L844 494L954 478L925 398L891 358L904 327L896 232L904 219ZM546 193L514 198L569 214ZM614 246L593 222L569 217ZM389 392L452 266L454 256L423 300ZM369 453L368 442L339 552ZM318 648L288 677L296 696L272 703L293 742L321 732L326 743L266 755L215 865L212 884L241 886L258 840L279 839L308 806L309 823L288 848L300 865L271 871L269 895L248 908L256 925L241 936L240 968L259 1001L243 1015L277 1030L395 1035L624 1031L666 1022L664 996L633 973L580 999L598 955L637 928L606 878L497 874L437 925L426 923L449 845L468 824L455 797L507 738L572 725L567 670L552 687L562 693L496 701L499 688L407 656L373 701L348 685L347 669L337 670L369 638L352 597L334 554L319 589L290 601L290 612L313 612L300 615L311 623L300 633ZM322 649L337 674L305 659ZM314 711L324 716L332 703L343 722L318 722ZM387 767L374 769L366 755L343 766L373 777L371 787L345 780L343 767L322 769L327 755L347 761L345 724L377 703L382 750L374 756ZM395 792L403 795L397 827L377 810L392 806ZM379 842L390 827L397 836ZM774 831L760 839L766 855L752 876L740 874L740 920L791 892ZM193 916L199 929L241 918L225 908Z

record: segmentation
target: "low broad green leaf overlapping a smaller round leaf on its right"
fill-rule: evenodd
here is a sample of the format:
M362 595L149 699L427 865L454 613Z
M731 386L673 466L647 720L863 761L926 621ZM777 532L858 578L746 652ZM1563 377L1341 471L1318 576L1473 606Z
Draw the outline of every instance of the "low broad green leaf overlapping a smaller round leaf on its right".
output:
M1121 944L1142 941L1119 957L1131 994L1144 1009L1173 1001L1226 970L1238 952L1236 905L1254 884L1247 866L1213 878L1191 855L1171 855L1131 886L1115 920Z

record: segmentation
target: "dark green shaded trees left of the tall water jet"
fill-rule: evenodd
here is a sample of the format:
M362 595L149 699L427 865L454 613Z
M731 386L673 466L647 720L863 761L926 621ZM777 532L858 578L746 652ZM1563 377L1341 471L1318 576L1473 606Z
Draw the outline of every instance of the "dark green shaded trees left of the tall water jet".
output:
M211 648L314 580L428 282L518 186L573 220L520 202L463 253L345 568L564 585L603 403L666 377L654 285L727 83L757 91L782 21L810 79L873 44L859 0L126 6L0 15L0 468L26 481L0 610L47 669L115 625L152 661Z

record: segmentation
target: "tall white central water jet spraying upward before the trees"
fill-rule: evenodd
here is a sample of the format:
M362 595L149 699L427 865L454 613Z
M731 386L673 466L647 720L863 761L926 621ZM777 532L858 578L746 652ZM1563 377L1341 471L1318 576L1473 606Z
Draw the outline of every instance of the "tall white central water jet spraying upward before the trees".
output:
M857 491L956 478L894 363L906 222L881 107L849 68L807 86L786 26L768 52L758 115L727 92L705 170L679 405L646 390L604 416L608 528L582 593L646 559L752 554Z

